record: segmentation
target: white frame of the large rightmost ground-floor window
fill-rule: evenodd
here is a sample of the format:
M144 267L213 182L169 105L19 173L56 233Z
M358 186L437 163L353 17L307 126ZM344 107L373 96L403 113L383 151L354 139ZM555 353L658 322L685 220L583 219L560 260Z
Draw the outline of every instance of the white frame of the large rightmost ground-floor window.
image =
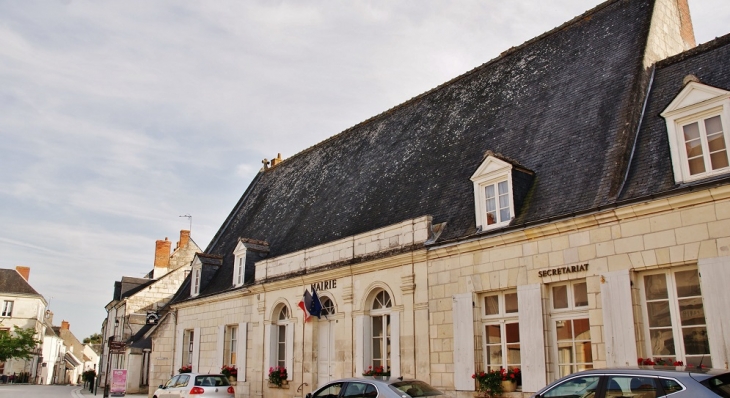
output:
M674 358L676 361L682 361L685 365L689 364L689 360L686 353L686 348L684 345L684 338L682 334L682 329L684 328L697 328L697 327L704 327L705 332L708 332L708 325L707 325L707 313L705 312L704 308L704 296L702 293L700 293L700 296L693 296L692 298L699 298L702 300L703 305L703 312L705 316L705 323L704 324L697 324L697 325L682 325L682 319L680 316L680 307L679 307L679 297L677 296L677 285L676 285L676 274L678 272L685 272L685 271L696 271L698 272L699 276L699 270L697 267L689 266L689 267L675 267L672 269L664 269L664 270L655 270L650 272L642 273L639 276L639 291L641 292L641 307L642 307L642 316L644 321L644 348L645 348L645 355L650 358L663 358L663 359L669 359ZM674 340L674 355L654 355L652 347L651 347L651 329L649 327L649 311L647 306L647 299L646 299L646 285L645 285L645 278L647 276L651 275L665 275L666 281L667 281L667 302L669 307L669 315L670 319L672 321L672 338ZM702 290L702 283L700 282L700 290ZM683 299L688 299L690 297L682 297ZM659 300L656 300L659 301ZM710 351L710 346L708 343L708 351ZM702 356L705 356L703 363L703 366L709 366L710 365L710 359L712 358L712 353L708 352L706 354L694 354L690 355L690 357L694 358L702 358ZM695 364L696 365L696 364Z

